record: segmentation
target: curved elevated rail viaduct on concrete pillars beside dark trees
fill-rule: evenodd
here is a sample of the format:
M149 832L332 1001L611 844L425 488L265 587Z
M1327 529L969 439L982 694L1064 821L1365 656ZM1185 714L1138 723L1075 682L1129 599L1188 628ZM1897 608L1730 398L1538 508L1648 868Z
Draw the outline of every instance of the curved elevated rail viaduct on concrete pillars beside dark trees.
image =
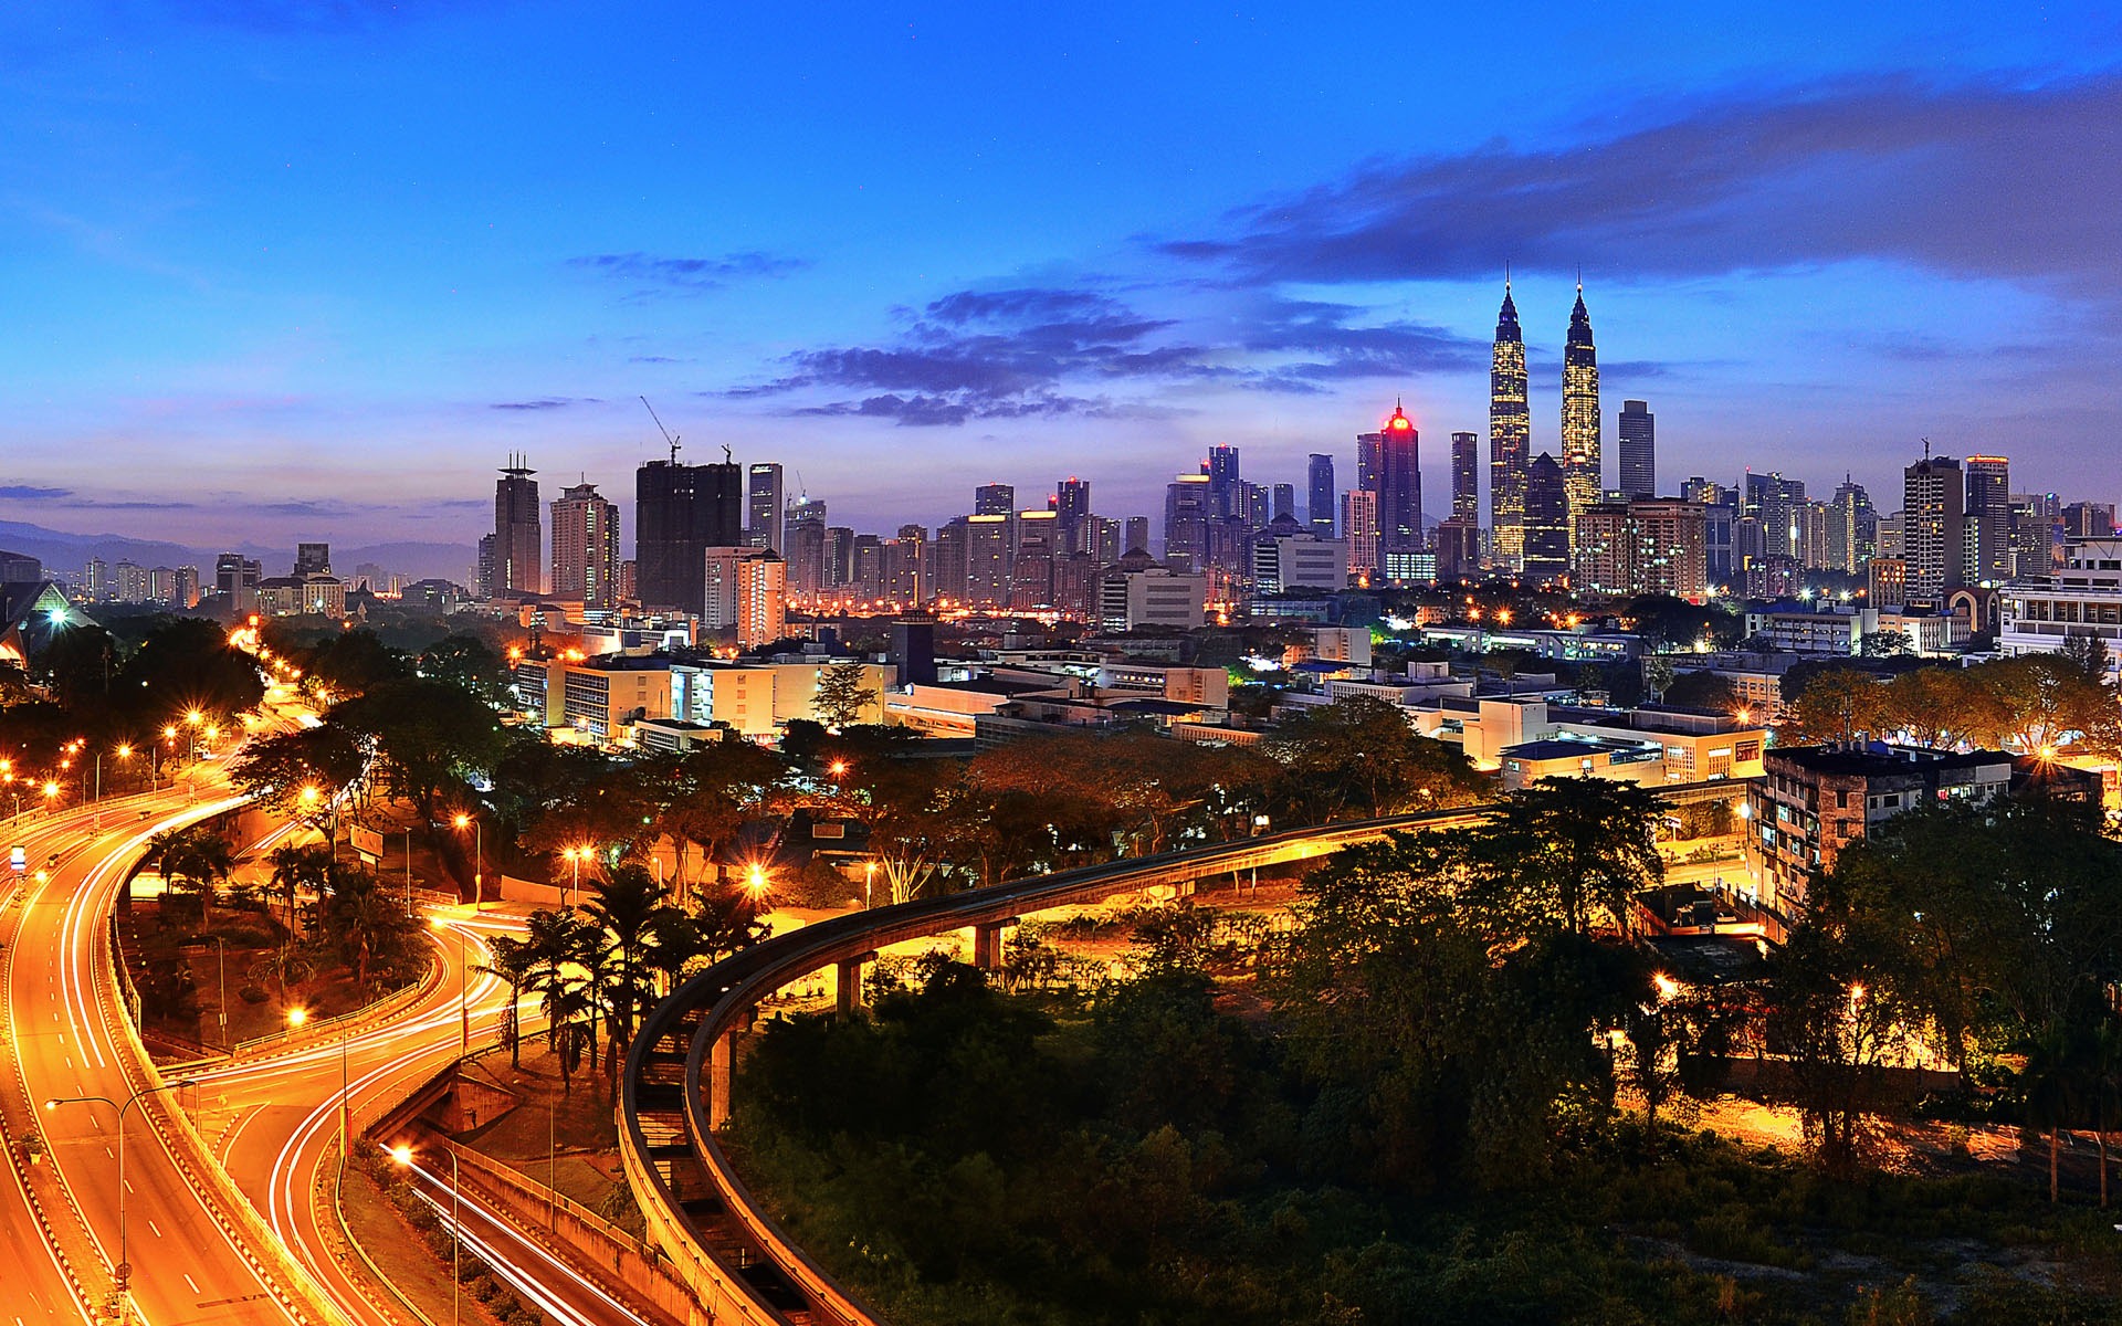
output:
M1666 804L1742 796L1744 781L1662 787ZM834 917L755 944L685 980L643 1020L626 1057L620 1095L620 1158L649 1239L692 1290L709 1322L876 1326L876 1318L789 1239L736 1175L715 1133L730 1114L734 1037L766 995L838 965L838 999L879 948L974 931L974 963L993 967L1002 931L1019 917L1159 885L1286 866L1396 830L1479 823L1488 808L1426 810L1354 823L1286 830L1190 851L1133 857Z

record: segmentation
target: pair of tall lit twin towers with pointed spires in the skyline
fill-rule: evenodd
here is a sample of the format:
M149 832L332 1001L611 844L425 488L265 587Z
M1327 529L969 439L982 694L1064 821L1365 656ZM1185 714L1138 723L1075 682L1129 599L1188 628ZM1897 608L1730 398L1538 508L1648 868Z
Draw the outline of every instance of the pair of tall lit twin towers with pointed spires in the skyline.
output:
M1555 558L1568 558L1568 530L1577 513L1600 501L1602 492L1598 420L1598 348L1592 344L1592 314L1585 312L1585 286L1579 280L1570 337L1562 350L1562 463L1558 467L1547 454L1534 460L1526 335L1517 327L1511 278L1504 276L1488 369L1488 516L1498 569L1549 571ZM1553 492L1555 473L1560 494Z

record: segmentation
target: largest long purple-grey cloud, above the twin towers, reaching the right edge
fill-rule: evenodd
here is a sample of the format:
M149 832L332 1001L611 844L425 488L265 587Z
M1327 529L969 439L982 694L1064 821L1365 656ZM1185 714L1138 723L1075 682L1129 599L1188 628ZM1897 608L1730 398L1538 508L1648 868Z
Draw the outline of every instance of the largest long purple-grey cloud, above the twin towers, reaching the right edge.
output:
M1969 278L2122 267L2122 76L1776 89L1566 149L1375 161L1156 248L1252 282L1521 267L1721 276L1850 259Z

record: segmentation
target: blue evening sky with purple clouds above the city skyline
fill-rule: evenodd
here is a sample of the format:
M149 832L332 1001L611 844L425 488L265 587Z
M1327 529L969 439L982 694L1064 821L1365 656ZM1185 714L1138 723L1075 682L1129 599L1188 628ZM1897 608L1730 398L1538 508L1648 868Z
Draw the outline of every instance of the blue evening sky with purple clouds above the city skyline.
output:
M0 518L460 539L492 469L783 460L889 533L1405 397L1428 507L1513 263L1659 479L2005 452L2122 496L2122 19L2060 4L15 0ZM792 477L794 488L794 477ZM628 539L630 545L630 539Z

